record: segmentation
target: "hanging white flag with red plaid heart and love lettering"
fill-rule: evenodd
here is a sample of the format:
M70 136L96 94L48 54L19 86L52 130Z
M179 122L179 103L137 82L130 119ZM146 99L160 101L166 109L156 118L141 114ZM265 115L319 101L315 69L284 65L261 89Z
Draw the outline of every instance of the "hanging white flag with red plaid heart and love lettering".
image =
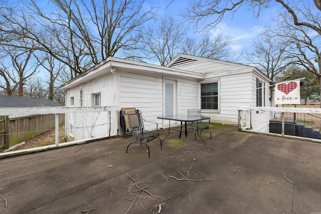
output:
M275 104L300 104L300 80L275 84Z

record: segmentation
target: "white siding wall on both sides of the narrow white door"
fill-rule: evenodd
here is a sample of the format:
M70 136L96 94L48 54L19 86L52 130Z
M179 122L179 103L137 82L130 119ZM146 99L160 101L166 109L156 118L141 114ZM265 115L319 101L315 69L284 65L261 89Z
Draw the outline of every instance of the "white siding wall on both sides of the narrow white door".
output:
M176 110L178 114L187 114L187 109L198 107L198 83L182 78L147 76L121 72L119 107L135 107L142 112L145 120L158 123L163 115L164 79L176 81ZM146 129L155 129L152 124L145 123Z

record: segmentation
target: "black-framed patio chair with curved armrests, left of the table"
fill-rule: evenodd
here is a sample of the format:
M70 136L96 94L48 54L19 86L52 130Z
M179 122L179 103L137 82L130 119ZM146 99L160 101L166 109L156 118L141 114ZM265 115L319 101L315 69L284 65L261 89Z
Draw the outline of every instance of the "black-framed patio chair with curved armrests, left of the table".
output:
M127 110L127 109L126 109ZM125 114L123 114L125 116L124 121L126 124L126 132L130 133L131 136L136 137L136 141L131 142L128 144L127 149L126 149L126 153L128 152L128 147L133 144L133 143L139 143L141 144L145 144L148 148L148 157L150 157L150 153L149 153L149 146L147 144L147 142L158 138L159 141L161 141L161 149L162 148L162 140L161 138L159 138L159 132L158 132L158 124L156 122L152 122L152 121L146 121L145 119L142 118L142 114L139 110L135 110L135 111L125 111ZM149 123L155 123L156 124L156 130L155 131L146 131L144 128L144 122L149 122Z

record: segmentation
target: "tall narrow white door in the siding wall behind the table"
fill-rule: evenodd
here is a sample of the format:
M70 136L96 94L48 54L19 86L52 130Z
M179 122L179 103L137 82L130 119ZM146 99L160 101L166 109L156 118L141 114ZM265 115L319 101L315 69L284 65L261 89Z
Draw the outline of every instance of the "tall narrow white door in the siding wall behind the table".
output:
M164 95L164 110L163 115L176 114L176 82L172 80L164 81L165 95ZM174 123L174 121L172 121ZM168 120L163 121L163 125L169 125Z

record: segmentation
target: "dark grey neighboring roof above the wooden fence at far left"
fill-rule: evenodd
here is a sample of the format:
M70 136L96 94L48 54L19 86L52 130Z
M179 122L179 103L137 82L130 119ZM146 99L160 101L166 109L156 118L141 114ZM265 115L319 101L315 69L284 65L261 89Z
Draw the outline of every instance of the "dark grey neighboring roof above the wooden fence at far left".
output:
M19 108L19 107L44 107L44 106L64 106L60 103L34 97L15 97L0 95L0 108Z

